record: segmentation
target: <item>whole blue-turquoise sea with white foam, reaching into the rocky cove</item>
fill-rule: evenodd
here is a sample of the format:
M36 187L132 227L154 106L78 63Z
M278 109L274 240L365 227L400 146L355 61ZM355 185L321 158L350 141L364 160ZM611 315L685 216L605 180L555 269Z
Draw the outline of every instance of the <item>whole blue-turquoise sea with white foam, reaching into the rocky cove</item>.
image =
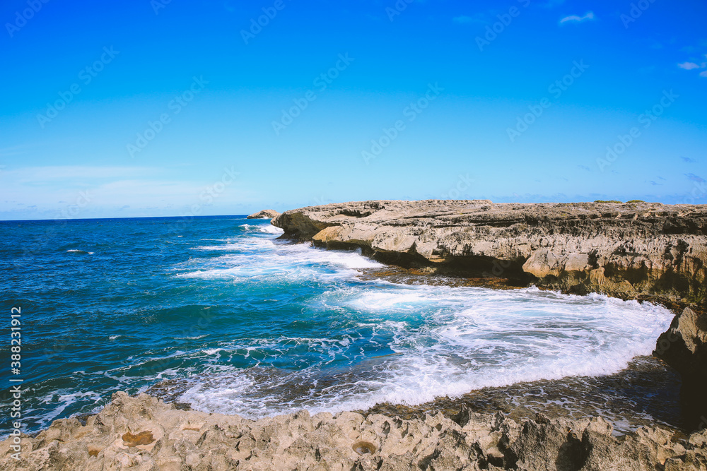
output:
M364 280L381 266L280 234L238 216L0 222L0 380L21 306L25 430L163 380L197 410L261 417L611 374L672 319L598 294Z

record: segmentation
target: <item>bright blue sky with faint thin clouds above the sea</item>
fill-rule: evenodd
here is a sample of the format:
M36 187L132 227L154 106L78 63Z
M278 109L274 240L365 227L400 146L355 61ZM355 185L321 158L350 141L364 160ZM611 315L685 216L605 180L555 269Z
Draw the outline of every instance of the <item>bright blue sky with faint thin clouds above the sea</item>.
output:
M707 4L8 0L0 220L707 203Z

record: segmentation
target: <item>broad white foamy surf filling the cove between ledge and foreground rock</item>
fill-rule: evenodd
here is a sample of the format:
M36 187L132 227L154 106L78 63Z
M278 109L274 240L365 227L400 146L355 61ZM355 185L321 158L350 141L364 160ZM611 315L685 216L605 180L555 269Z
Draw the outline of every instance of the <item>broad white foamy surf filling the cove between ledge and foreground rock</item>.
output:
M296 362L296 349L307 346L310 354L348 358L350 368L342 374L324 362L257 375L229 368L180 400L197 410L255 418L302 407L315 413L382 402L417 405L487 386L614 374L650 354L672 320L662 306L534 287L359 285L322 293L310 305L322 314L334 307L356 321L355 332L368 335L366 345L385 345L392 354L366 358L360 342L349 338L259 340L250 348L260 358L267 353Z

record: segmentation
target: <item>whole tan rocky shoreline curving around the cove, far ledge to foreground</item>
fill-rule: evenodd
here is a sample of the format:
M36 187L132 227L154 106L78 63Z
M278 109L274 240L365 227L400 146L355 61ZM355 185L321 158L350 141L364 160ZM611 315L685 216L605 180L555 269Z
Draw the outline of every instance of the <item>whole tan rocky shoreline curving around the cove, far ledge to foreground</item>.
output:
M22 460L11 457L13 437L1 442L0 468L707 471L706 205L367 201L289 210L271 223L288 239L361 249L402 267L396 276L661 302L676 316L654 355L681 374L687 425L699 430L649 424L617 436L600 417L477 413L459 403L445 414L383 406L253 421L116 393L85 422L59 419L16 439Z

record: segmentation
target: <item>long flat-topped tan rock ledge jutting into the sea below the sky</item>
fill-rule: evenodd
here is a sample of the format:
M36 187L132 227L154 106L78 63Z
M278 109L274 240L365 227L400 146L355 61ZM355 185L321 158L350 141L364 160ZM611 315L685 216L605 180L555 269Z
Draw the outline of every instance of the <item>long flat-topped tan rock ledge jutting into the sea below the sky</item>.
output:
M707 205L365 201L288 210L284 237L564 292L707 299Z

